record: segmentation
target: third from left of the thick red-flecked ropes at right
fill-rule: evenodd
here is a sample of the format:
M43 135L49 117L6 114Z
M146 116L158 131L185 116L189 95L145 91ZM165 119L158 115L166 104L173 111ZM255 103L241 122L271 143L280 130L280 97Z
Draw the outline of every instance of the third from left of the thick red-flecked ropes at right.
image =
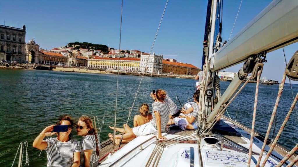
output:
M297 103L297 100L298 100L298 92L297 92L297 94L296 94L296 97L295 97L295 99L294 99L294 101L293 101L293 103L292 103L292 105L291 105L291 108L290 108L290 110L289 110L287 116L285 117L285 120L283 121L283 124L282 124L281 127L280 127L280 130L278 131L278 133L277 133L277 135L276 135L276 137L275 137L275 139L274 139L274 141L273 141L273 143L272 143L272 146L271 146L270 150L268 151L268 153L267 153L267 155L266 155L266 157L265 157L264 162L262 163L262 167L265 166L265 164L266 164L266 162L267 162L269 156L271 155L271 152L273 151L273 149L274 149L274 147L275 147L275 145L276 145L278 139L280 138L280 135L281 135L281 133L283 132L283 129L285 128L285 125L287 124L288 119L289 119L290 116L291 116L291 113L292 113L292 111L293 111L293 109L294 109L294 107L295 107L295 105L296 105L296 103Z

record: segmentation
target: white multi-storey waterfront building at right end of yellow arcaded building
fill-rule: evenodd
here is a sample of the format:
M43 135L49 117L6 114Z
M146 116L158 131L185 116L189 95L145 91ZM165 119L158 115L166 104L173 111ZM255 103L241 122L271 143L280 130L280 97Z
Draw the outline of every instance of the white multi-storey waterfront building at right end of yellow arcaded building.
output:
M140 71L145 73L161 73L162 72L162 60L163 55L156 55L154 52L152 55L148 53L141 53L140 56Z

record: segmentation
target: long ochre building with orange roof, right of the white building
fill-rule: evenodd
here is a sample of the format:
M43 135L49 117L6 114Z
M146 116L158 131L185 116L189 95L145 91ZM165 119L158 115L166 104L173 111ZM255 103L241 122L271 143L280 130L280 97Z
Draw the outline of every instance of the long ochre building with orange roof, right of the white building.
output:
M192 64L184 64L179 62L162 61L162 73L180 74L180 75L196 75L201 69Z

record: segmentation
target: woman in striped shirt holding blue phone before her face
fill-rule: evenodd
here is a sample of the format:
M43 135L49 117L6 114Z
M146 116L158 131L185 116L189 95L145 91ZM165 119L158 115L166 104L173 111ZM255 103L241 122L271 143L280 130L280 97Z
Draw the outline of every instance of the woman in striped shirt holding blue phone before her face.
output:
M52 132L54 126L50 125L35 138L33 147L46 150L48 159L47 166L80 166L81 145L77 140L72 139L72 127L74 122L69 115L61 116L57 125L67 125L67 132ZM43 140L45 136L57 134L55 138Z

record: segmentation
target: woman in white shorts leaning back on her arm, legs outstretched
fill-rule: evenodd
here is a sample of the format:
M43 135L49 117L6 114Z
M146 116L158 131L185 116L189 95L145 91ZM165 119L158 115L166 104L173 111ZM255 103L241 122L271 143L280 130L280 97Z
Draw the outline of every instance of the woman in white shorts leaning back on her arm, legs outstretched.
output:
M162 89L158 89L156 91L155 99L156 101L152 103L152 110L154 112L153 119L150 120L150 122L137 126L132 128L131 131L126 131L123 135L122 142L128 142L136 138L140 135L148 135L152 133L157 133L159 139L167 139L162 136L162 132L165 131L165 128L167 126L167 122L169 120L170 115L170 109L167 102L164 101L164 98L166 97L166 91ZM108 136L113 140L113 135L111 133L108 134ZM115 143L119 144L120 139L122 135L116 135L115 136Z

